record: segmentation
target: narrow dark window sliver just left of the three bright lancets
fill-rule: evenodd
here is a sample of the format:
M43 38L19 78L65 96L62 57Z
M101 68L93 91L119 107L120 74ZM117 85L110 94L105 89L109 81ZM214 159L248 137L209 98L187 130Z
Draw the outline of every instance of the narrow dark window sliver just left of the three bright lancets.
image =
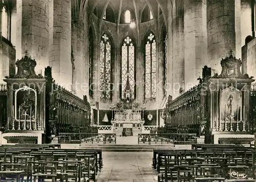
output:
M93 95L93 33L89 31L89 95Z

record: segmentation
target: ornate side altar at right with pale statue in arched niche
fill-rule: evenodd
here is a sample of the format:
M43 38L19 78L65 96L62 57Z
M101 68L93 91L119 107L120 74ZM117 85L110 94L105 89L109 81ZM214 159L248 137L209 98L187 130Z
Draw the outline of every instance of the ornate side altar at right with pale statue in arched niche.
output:
M253 140L249 99L251 83L255 80L248 74L242 75L241 65L242 61L231 54L222 59L221 74L208 80L211 117L206 128L210 128L208 132L214 143L236 143L238 140L243 143L243 138Z

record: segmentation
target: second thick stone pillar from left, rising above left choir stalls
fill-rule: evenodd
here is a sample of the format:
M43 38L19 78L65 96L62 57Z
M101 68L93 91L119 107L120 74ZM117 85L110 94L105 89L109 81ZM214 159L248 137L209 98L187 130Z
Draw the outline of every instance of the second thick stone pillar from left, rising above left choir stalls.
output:
M49 7L49 65L56 83L71 90L71 0L52 0Z

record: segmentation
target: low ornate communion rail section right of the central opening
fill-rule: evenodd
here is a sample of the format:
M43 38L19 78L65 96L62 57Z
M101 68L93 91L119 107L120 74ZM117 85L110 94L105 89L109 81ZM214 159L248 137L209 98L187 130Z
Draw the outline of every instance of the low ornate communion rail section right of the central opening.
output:
M138 134L138 144L193 144L197 134Z

